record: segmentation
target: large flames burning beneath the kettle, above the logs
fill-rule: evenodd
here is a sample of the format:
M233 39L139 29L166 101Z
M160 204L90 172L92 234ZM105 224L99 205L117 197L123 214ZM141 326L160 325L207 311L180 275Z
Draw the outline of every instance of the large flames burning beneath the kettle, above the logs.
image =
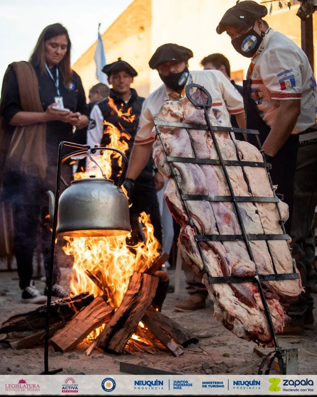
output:
M145 271L159 255L160 245L153 235L149 215L142 212L139 222L145 238L135 245L127 242L131 234L128 237L64 237L67 244L63 250L74 258L70 283L74 294L88 291L96 297L105 293L111 306L115 309L120 306L133 272ZM101 281L103 291L86 275L86 270ZM96 330L95 336L102 329Z

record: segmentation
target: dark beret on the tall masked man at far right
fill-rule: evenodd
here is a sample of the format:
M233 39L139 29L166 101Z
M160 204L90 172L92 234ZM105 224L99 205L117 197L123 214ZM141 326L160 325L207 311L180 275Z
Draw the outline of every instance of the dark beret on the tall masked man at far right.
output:
M235 6L225 12L216 28L216 32L220 35L225 31L226 26L251 27L258 19L265 17L266 14L267 8L255 1L245 0L237 2Z

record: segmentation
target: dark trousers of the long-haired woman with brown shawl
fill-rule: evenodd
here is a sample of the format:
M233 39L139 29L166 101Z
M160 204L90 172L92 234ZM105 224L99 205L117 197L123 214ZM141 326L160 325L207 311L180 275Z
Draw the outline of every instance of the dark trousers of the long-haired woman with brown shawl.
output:
M33 274L33 254L36 246L38 227L42 224L41 246L44 258L46 279L48 280L52 232L51 222L46 219L47 207L37 205L12 204L13 207L13 251L17 260L19 285L25 289L30 285ZM59 269L54 266L53 284L59 279Z

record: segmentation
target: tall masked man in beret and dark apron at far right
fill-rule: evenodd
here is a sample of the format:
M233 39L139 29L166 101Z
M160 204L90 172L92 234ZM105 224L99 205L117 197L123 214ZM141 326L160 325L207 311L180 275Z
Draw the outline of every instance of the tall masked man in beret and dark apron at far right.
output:
M317 204L316 81L306 54L262 19L267 8L254 1L237 2L223 15L216 31L226 31L241 55L251 58L243 94L246 127L260 132L277 194L289 206L286 233L292 238L305 293L288 307L292 321L284 335L300 336L313 324L316 283L311 227ZM248 141L256 144L252 137Z

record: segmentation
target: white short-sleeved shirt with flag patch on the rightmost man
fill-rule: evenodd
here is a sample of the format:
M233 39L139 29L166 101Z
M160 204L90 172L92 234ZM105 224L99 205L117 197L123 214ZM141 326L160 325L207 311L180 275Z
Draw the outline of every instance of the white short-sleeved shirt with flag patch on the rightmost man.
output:
M282 33L270 29L252 62L251 95L262 119L271 127L279 100L298 99L301 111L292 134L315 127L316 81L304 51Z

